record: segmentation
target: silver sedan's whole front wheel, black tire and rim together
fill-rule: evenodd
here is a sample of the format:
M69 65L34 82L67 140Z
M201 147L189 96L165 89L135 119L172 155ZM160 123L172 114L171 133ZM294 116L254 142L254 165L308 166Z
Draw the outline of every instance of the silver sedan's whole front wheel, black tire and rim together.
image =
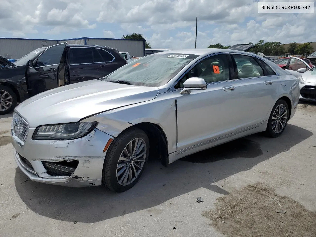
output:
M137 155L134 155L135 158L130 158L133 152L130 152L131 147L129 144L131 143L133 150L135 147L133 144L136 142L138 144L136 148L138 147L138 149L135 151L135 154L137 153ZM143 154L144 152L146 153ZM141 156L138 157L139 155ZM102 171L102 184L114 192L124 192L130 189L142 175L148 155L149 138L147 134L138 128L128 129L113 140L106 152ZM122 160L122 157L127 159ZM135 171L137 175L135 175Z

